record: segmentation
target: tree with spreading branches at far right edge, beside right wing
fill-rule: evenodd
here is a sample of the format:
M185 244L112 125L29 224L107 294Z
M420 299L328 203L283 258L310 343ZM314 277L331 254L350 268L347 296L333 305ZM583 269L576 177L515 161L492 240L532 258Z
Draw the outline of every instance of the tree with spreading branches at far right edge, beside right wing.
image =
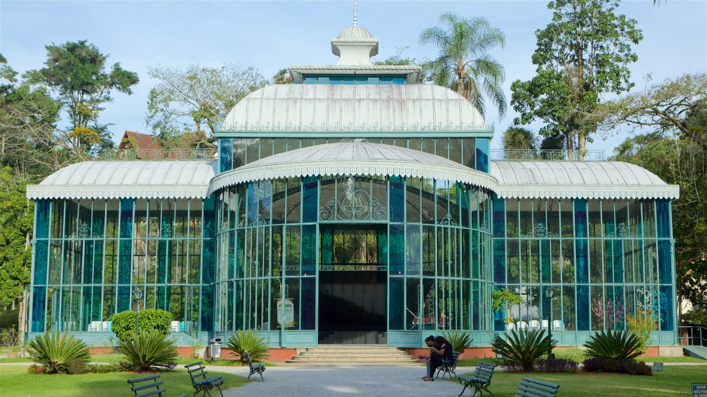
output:
M655 84L598 109L606 129L641 129L616 148L616 160L633 162L669 184L673 203L675 281L679 307L707 306L707 75L697 73ZM680 315L680 313L679 313Z

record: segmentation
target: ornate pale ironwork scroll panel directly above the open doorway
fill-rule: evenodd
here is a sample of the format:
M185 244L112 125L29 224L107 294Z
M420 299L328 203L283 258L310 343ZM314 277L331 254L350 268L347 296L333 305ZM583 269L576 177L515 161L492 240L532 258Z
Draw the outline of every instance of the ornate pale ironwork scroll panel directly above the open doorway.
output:
M386 220L385 206L353 177L346 179L344 189L320 207L320 220Z

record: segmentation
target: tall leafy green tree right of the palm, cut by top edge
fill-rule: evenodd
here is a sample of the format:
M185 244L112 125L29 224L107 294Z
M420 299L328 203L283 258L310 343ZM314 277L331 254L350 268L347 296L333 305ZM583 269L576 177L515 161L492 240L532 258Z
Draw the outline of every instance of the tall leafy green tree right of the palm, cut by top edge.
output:
M565 138L569 158L584 159L596 125L586 117L604 93L624 93L633 84L628 65L638 59L631 49L643 39L636 20L617 15L618 0L556 0L552 22L537 30L537 65L530 81L510 86L518 124L539 119L544 136Z

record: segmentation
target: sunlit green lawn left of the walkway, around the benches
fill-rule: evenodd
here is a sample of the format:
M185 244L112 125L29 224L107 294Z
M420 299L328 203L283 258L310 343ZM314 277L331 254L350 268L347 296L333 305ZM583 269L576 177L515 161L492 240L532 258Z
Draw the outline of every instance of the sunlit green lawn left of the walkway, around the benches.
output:
M225 389L243 386L245 377L221 372L209 372L210 376L226 378ZM148 373L112 372L110 374L83 375L30 375L24 366L0 367L0 384L3 397L78 397L78 396L128 396L128 379L149 376ZM194 393L185 369L160 373L165 382L166 396Z

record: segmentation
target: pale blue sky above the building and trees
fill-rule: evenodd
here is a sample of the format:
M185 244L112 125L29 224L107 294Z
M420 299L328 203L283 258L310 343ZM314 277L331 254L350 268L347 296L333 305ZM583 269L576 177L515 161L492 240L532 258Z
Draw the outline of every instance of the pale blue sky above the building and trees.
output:
M133 95L116 93L101 121L124 129L149 132L144 124L147 94L154 85L148 66L186 66L224 62L255 66L266 77L291 64L335 64L329 40L351 25L353 1L0 1L0 52L17 71L38 69L45 45L88 40L109 62L136 71L140 84ZM396 47L404 54L431 58L436 51L421 47L423 28L437 24L440 13L486 17L506 33L506 47L492 54L506 67L504 89L534 74L530 61L534 31L549 23L547 1L358 1L358 23L380 40L384 59ZM707 1L624 1L621 13L638 20L643 42L631 64L636 87L682 73L707 71ZM510 107L509 107L510 108ZM496 125L492 147L515 114L498 119L493 109L487 122ZM531 126L537 131L539 125ZM617 131L606 140L597 136L589 149L609 154L626 135Z

